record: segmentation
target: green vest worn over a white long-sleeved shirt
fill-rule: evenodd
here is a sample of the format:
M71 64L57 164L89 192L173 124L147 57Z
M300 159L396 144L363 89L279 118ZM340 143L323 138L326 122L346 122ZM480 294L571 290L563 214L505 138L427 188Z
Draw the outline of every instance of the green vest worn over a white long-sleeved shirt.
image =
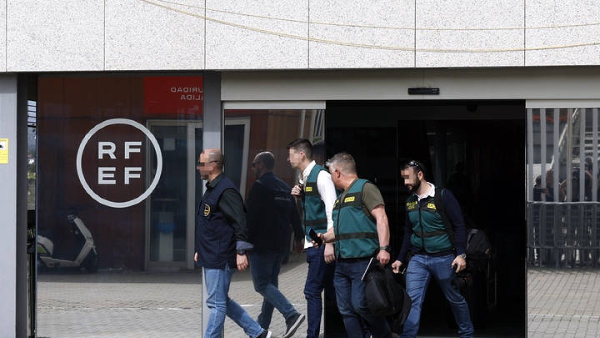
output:
M317 233L327 231L327 214L325 214L325 203L319 195L317 188L317 176L321 170L325 170L322 166L316 164L313 170L310 171L306 182L304 183L304 199L302 207L304 209L304 233L308 234L308 228L313 228ZM310 242L311 239L306 236Z

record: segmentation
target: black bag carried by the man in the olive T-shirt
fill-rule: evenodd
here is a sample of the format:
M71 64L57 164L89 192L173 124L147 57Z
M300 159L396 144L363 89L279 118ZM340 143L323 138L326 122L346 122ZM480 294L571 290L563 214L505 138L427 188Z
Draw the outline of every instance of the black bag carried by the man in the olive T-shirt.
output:
M410 311L410 298L402 284L396 281L391 266L382 267L377 259L373 259L363 281L370 312L375 316L399 314L404 323Z

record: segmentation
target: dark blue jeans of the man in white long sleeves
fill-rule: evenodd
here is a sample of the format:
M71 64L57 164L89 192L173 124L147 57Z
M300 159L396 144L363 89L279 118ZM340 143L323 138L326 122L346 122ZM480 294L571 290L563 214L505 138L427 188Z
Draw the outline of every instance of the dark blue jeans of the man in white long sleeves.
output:
M306 251L308 274L304 284L304 297L307 302L307 338L319 338L323 301L321 293L325 288L333 289L334 263L325 263L325 245L319 248L309 248ZM333 294L330 292L326 292Z

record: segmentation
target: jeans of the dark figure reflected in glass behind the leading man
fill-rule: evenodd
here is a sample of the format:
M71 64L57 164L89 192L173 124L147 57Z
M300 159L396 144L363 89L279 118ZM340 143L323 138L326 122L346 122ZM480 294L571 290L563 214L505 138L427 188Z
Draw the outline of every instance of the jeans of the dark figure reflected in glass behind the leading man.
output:
M265 329L269 328L269 325L271 325L274 307L285 319L288 319L297 313L293 305L290 304L287 298L278 289L281 262L283 262L283 254L250 254L250 272L252 274L254 290L265 298L257 322Z

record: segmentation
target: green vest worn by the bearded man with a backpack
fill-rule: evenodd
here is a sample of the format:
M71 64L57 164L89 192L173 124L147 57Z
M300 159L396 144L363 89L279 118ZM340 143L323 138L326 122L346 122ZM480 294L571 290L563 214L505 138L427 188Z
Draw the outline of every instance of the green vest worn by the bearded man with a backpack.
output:
M411 195L406 201L406 212L413 226L410 243L416 250L425 253L452 250L452 242L433 197L425 197L419 203L416 195Z

